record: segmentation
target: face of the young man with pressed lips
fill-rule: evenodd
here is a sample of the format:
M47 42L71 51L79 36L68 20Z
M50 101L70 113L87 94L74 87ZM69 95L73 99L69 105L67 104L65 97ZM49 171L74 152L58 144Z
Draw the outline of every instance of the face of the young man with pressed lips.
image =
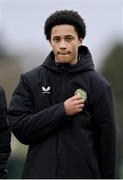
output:
M76 64L81 43L82 39L78 39L74 26L65 24L52 28L50 44L56 62Z

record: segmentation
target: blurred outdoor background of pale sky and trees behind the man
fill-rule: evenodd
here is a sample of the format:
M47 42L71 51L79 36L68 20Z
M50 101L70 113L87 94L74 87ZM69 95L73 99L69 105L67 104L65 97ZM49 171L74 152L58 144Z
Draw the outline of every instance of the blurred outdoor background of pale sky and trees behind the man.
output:
M0 86L9 105L20 74L42 63L50 51L43 24L57 9L77 10L85 18L84 45L96 71L112 85L117 120L117 178L123 178L123 1L0 0ZM12 136L9 178L21 178L28 146Z

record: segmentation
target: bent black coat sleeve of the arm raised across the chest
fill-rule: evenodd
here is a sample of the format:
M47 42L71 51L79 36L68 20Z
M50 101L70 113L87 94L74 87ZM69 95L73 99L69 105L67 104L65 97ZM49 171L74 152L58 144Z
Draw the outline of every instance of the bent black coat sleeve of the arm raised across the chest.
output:
M13 134L21 143L29 145L57 132L66 122L67 115L63 103L35 112L33 95L23 78L13 93L8 114Z

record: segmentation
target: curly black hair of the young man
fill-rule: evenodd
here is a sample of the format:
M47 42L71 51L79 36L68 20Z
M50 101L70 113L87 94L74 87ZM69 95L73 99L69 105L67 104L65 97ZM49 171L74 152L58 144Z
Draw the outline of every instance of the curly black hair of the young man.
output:
M84 20L78 14L78 12L73 10L61 10L52 13L45 22L44 33L47 40L51 38L51 30L56 25L69 24L74 26L78 38L83 38L86 35L86 25Z

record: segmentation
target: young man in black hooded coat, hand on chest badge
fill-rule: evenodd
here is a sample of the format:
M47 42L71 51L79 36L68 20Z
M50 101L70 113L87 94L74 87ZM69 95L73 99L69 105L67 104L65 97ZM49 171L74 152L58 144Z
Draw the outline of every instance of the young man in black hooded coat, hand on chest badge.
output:
M114 178L115 119L111 87L95 70L77 12L45 22L53 51L21 76L9 121L29 145L23 178Z

